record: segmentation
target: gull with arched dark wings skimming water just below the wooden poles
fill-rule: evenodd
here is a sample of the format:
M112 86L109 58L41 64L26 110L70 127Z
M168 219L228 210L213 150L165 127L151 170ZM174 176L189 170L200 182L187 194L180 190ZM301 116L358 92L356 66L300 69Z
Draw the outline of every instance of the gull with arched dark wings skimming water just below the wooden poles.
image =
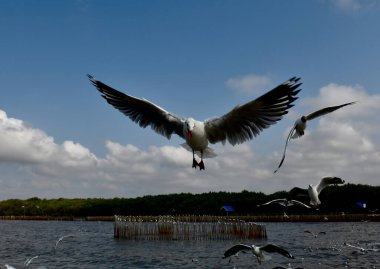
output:
M232 255L236 255L240 251L248 251L248 250L252 251L252 254L257 257L257 261L260 264L261 264L261 261L264 259L263 251L270 252L270 253L277 252L277 253L279 253L279 254L287 257L287 258L294 259L293 255L290 254L287 250L285 250L284 248L279 247L277 245L273 245L273 244L267 244L267 245L261 246L261 247L255 246L255 245L237 244L237 245L231 247L230 249L228 249L224 253L223 259L231 257Z

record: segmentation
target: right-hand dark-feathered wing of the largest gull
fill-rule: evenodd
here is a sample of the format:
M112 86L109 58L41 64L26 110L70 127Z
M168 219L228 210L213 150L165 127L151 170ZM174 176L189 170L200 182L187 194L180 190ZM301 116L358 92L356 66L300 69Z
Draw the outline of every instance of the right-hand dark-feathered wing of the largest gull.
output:
M261 97L244 105L236 106L227 114L205 121L207 138L211 143L226 140L232 144L241 144L263 129L275 124L288 109L293 106L300 91L297 88L299 78L291 78Z

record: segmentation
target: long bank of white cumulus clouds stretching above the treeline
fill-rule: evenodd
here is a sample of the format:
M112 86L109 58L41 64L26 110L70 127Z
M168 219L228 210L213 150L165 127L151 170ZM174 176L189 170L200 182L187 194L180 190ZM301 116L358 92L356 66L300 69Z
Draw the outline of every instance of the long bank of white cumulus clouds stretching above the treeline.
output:
M74 141L57 143L44 131L0 111L0 199L52 197L136 197L147 194L252 190L272 193L306 187L326 175L379 185L380 95L360 86L329 84L317 96L300 99L284 119L356 101L309 122L304 137L291 140L282 168L274 174L282 146L256 150L255 141L213 145L218 156L205 159L206 171L191 168L192 154L180 146L141 149L105 141L95 156ZM290 118L290 120L289 120ZM268 131L265 131L268 134Z

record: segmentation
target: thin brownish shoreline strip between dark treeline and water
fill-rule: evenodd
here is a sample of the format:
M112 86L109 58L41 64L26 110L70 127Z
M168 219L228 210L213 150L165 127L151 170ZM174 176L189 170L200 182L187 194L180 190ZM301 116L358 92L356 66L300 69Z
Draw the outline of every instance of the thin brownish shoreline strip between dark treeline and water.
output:
M139 217L139 216L133 216ZM141 216L149 219L152 216ZM187 216L183 216L187 218ZM380 222L380 214L345 214L345 215L273 215L273 216L215 216L228 221L245 221L245 222ZM181 216L176 216L181 218ZM207 216L204 218L207 219ZM29 220L29 221L108 221L113 222L114 216L0 216L0 220ZM207 221L207 220L206 220Z

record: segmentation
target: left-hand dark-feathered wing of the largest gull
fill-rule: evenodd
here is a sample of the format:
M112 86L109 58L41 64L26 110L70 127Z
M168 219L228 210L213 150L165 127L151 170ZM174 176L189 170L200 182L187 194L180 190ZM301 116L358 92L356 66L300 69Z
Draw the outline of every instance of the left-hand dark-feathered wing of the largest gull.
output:
M173 133L184 138L183 120L181 118L148 100L124 94L96 80L91 75L88 77L109 104L138 123L140 127L151 126L155 132L168 139Z

